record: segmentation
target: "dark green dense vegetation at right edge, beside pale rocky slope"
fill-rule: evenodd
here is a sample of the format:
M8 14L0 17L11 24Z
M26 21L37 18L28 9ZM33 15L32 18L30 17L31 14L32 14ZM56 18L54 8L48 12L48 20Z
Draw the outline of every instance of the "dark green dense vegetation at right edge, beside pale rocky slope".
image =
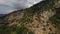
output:
M56 8L56 14L50 18L53 24L55 24L55 27L60 28L60 8Z

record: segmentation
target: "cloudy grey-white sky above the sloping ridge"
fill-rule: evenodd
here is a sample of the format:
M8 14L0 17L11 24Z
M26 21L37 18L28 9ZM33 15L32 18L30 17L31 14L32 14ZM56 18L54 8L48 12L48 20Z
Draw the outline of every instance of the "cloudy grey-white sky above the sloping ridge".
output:
M42 0L0 0L0 14L8 14L18 9L24 9Z

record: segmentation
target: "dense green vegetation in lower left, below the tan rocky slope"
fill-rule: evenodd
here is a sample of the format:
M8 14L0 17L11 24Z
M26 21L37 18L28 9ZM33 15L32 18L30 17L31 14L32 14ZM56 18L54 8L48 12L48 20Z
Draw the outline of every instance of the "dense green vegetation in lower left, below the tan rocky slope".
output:
M17 27L16 25L8 26L5 24L0 24L0 34L34 34L32 31L29 31L24 26Z

